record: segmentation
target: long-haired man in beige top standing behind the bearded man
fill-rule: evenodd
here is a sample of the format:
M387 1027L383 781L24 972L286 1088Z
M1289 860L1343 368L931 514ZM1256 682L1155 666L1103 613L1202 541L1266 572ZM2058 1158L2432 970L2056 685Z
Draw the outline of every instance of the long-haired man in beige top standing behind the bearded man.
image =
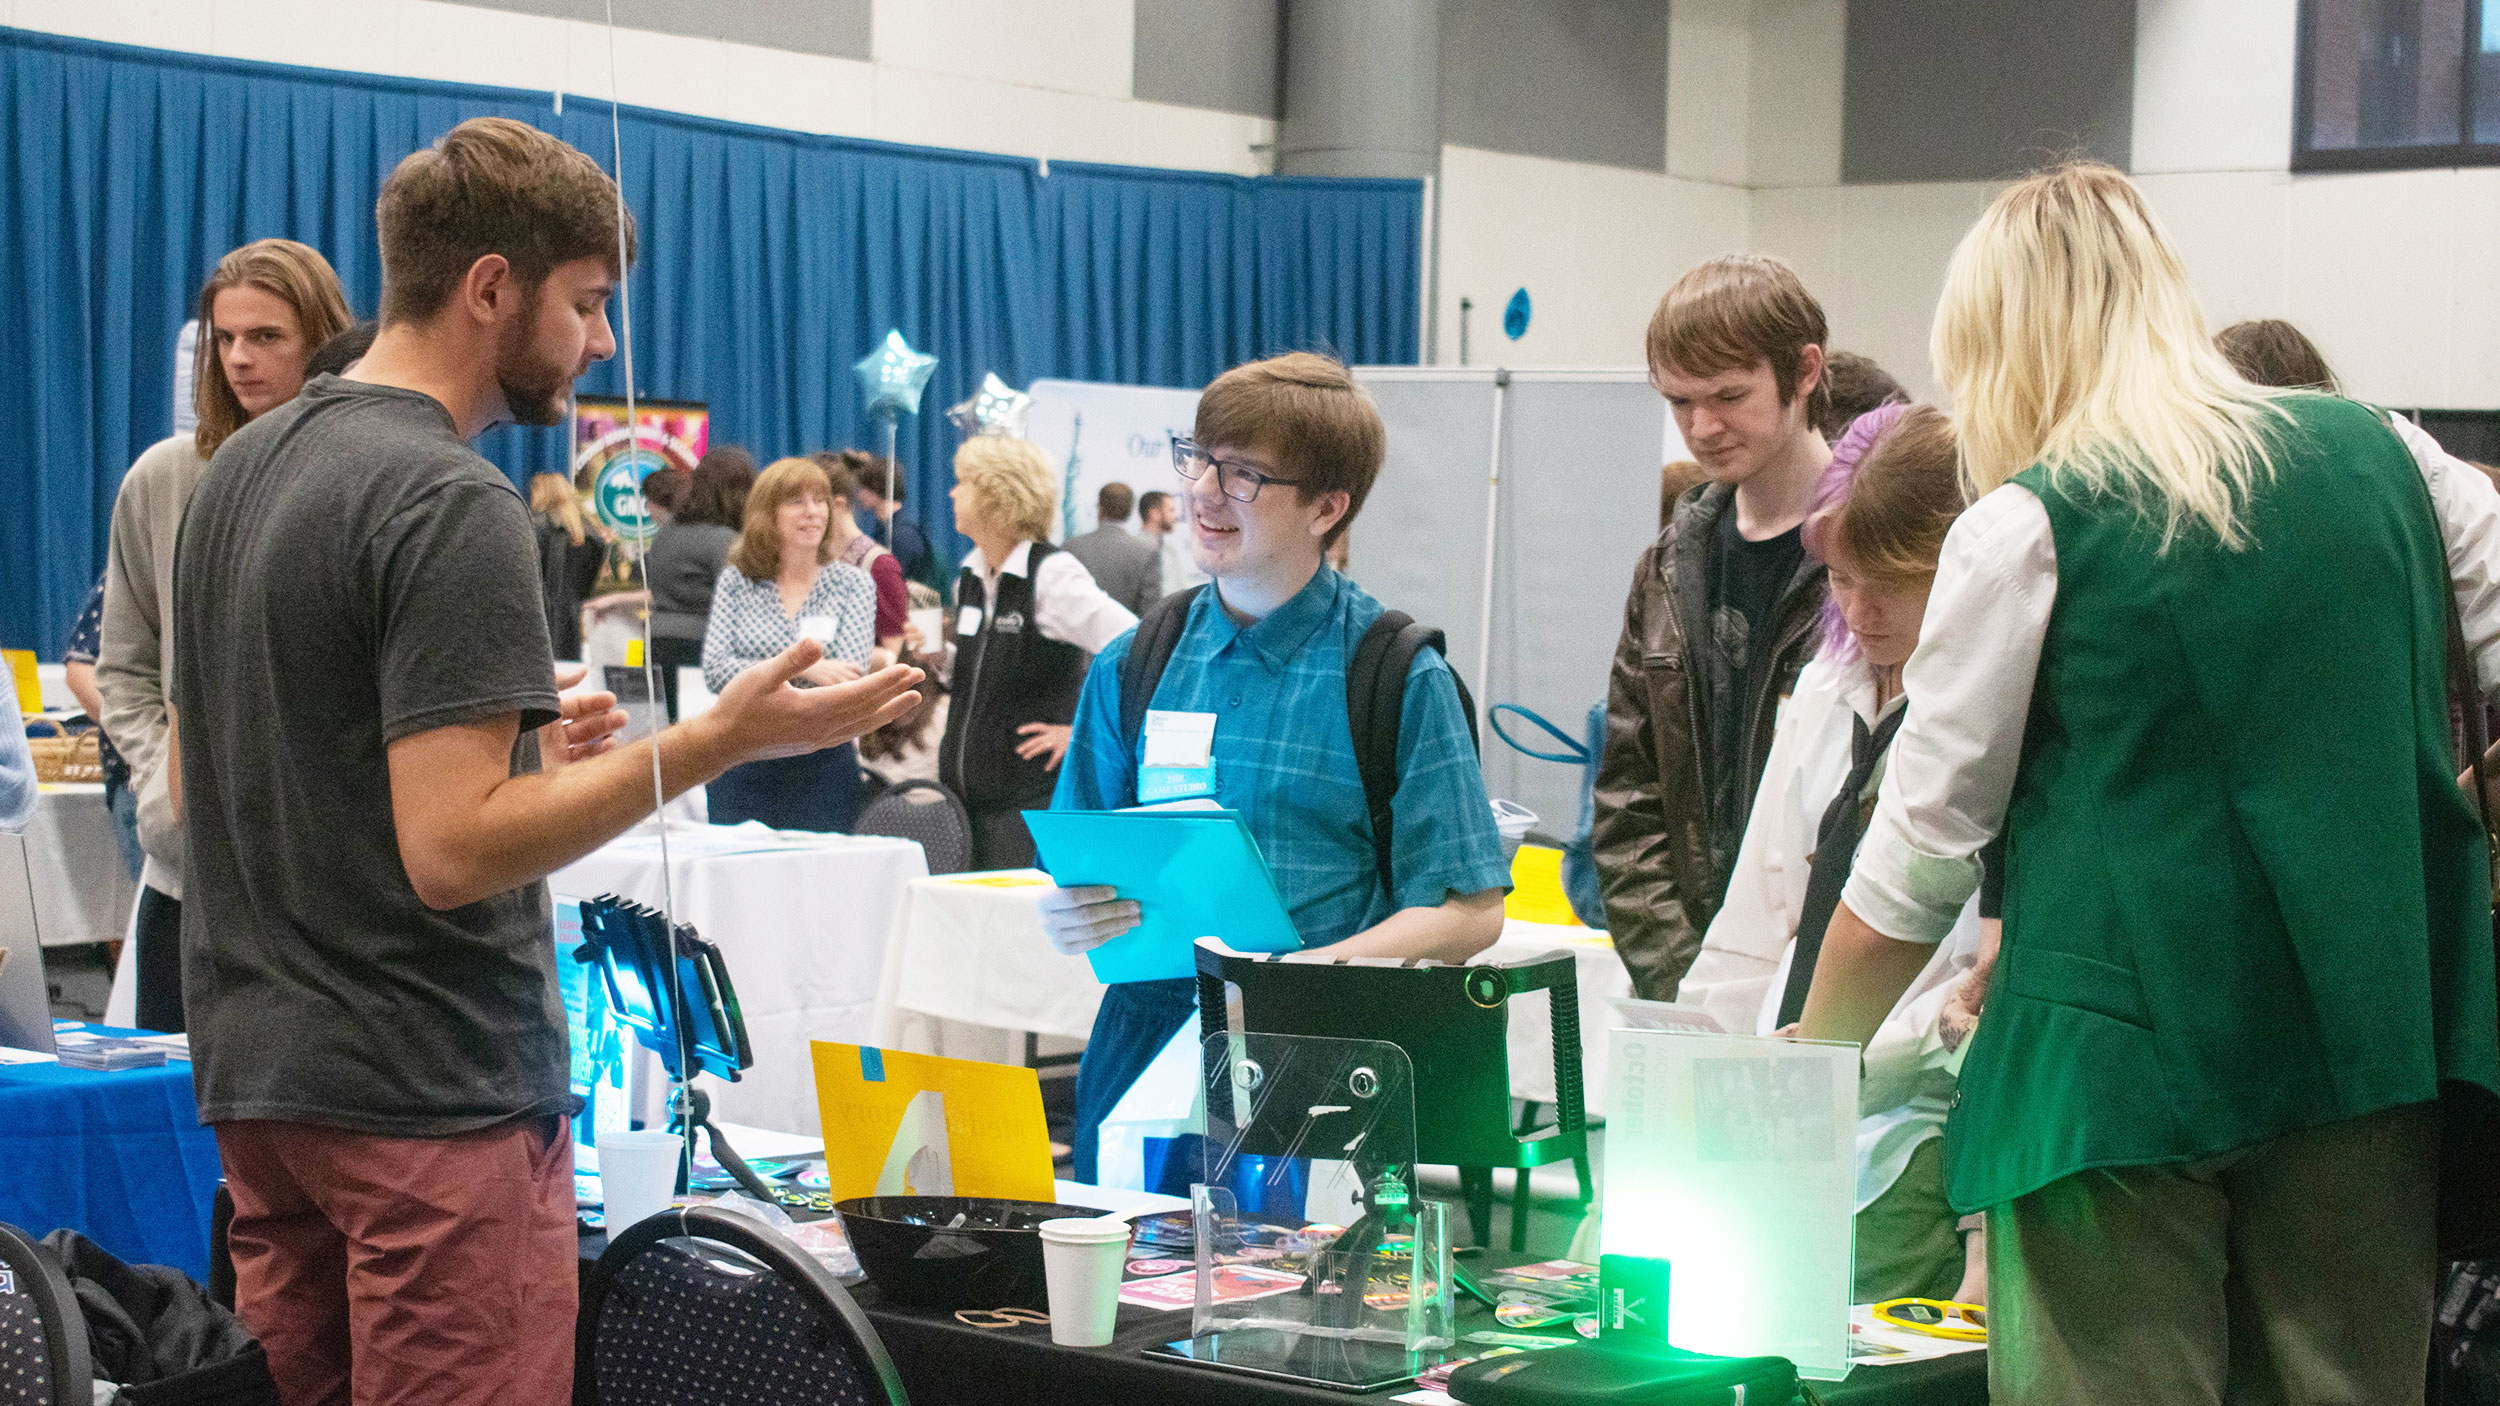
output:
M165 771L172 698L172 540L182 505L228 435L302 390L305 363L348 330L348 295L320 250L252 240L200 285L192 358L198 428L148 448L122 475L105 548L105 620L95 653L100 718L130 763L138 803L138 1023L182 1031L182 821Z

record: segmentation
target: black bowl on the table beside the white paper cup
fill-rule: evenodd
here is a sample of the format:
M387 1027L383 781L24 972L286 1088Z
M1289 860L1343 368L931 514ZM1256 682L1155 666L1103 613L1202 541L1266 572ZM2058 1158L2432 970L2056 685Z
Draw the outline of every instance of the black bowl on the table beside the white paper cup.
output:
M892 1303L1045 1311L1040 1223L1102 1216L990 1196L858 1196L835 1211L868 1281Z

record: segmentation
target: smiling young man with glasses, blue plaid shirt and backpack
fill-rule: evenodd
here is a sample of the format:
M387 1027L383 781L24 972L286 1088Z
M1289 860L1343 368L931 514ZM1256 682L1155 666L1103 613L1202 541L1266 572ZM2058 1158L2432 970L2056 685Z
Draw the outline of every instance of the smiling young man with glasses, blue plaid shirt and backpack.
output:
M1382 605L1322 558L1362 508L1385 438L1370 395L1325 355L1238 365L1208 388L1198 438L1175 440L1172 458L1212 588L1155 608L1185 623L1138 738L1122 668L1155 620L1095 658L1052 808L1212 798L1250 826L1305 948L1468 961L1502 931L1510 868L1455 675L1430 648L1405 673L1388 866L1345 706L1348 663ZM1162 728L1175 746L1148 768L1145 741ZM1180 738L1210 741L1182 758L1192 766L1165 766ZM1082 953L1135 928L1138 903L1108 886L1058 888L1042 926ZM1188 978L1102 996L1078 1068L1078 1181L1095 1181L1102 1118L1195 1006Z

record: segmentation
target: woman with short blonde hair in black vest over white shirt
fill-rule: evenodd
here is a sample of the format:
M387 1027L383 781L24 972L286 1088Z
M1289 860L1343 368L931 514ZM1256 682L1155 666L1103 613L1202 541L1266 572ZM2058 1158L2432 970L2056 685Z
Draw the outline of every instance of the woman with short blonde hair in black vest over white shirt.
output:
M1048 811L1092 655L1132 630L1085 563L1050 545L1060 475L1032 440L955 450L955 673L938 778L972 816L972 868L1025 868L1025 811Z

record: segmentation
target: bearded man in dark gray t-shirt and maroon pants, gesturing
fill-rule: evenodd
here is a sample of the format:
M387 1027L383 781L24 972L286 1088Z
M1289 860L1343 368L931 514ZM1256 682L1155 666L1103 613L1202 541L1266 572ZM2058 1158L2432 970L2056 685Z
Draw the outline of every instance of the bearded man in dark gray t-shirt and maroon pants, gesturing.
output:
M468 448L615 350L615 185L480 118L382 185L382 328L232 435L175 545L185 1006L235 1308L290 1403L565 1401L572 1141L545 876L730 766L920 703L812 640L615 746L558 695L530 515ZM620 248L622 245L622 248ZM658 781L655 781L658 778Z

